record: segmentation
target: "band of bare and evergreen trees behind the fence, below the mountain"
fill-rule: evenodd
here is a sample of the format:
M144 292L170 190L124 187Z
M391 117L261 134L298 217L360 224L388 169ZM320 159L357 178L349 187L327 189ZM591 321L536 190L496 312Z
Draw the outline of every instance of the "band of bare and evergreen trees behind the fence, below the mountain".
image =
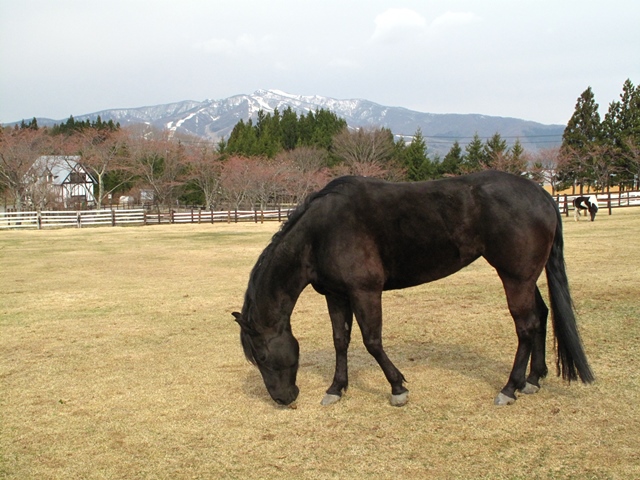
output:
M430 155L420 129L409 138L386 128L348 127L329 110L260 111L217 143L113 121L39 127L36 119L0 130L0 192L5 204L33 207L33 165L41 155L79 155L96 182L97 207L121 195L157 208L264 208L296 203L340 175L419 181L483 169L527 175L554 189L637 187L640 173L640 87L630 80L601 121L589 87L579 98L559 148L525 151L496 133L455 142ZM43 203L44 202L44 203ZM39 203L41 208L54 205Z

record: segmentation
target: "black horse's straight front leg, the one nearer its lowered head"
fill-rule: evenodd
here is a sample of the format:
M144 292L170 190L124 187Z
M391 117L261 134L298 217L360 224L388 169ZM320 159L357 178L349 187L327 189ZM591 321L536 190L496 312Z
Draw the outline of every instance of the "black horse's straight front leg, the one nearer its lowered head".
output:
M336 371L333 382L326 395L320 402L322 405L331 405L340 401L342 392L349 386L347 351L351 341L351 327L353 325L353 311L346 297L326 295L331 326L333 328L333 346L336 350Z

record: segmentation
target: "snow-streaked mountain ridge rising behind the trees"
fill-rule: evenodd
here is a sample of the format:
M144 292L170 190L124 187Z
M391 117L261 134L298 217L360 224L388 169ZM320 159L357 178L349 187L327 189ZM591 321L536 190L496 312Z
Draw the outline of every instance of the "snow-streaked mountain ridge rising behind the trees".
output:
M483 140L500 133L507 143L517 138L527 150L559 145L564 125L544 125L516 118L492 117L477 114L433 114L387 107L362 99L337 100L321 96L292 95L279 90L257 90L251 95L235 95L221 100L183 101L152 107L113 109L74 116L76 120L113 120L122 126L148 124L199 137L218 140L228 137L233 127L243 119L257 117L258 111L280 112L291 107L298 114L317 109L334 112L352 128L385 127L396 135L410 137L418 128L427 139L431 153L446 154L455 140L462 146L474 134ZM38 119L40 125L61 123Z

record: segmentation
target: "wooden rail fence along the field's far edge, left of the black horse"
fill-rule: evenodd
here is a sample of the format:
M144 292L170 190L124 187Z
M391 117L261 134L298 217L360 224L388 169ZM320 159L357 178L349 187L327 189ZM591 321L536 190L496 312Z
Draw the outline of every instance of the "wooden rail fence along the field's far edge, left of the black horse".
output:
M79 210L79 211L32 211L0 212L0 230L20 228L63 228L90 226L157 225L168 223L238 223L285 220L289 209L277 210L200 210L186 212L148 212L131 210Z

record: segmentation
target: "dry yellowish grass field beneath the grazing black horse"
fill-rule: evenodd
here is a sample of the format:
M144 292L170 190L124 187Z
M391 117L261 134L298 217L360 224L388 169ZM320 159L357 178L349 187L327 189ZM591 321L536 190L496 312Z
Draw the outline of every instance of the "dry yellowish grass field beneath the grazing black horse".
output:
M359 335L349 391L320 405L331 327L305 290L294 410L271 401L231 316L278 225L0 232L0 478L640 478L640 209L613 213L565 222L596 383L552 375L510 407L493 398L516 337L483 260L385 293L402 408Z

